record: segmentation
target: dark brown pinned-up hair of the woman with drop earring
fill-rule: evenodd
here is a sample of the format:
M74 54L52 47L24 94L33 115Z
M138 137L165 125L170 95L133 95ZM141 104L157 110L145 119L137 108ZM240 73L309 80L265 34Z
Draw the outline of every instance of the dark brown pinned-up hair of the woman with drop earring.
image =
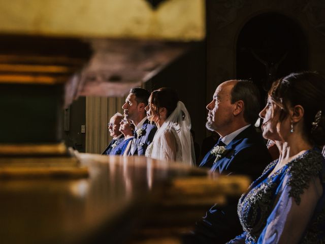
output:
M280 121L288 109L304 108L303 135L311 143L325 144L325 79L315 72L291 73L272 84L269 96L281 108Z

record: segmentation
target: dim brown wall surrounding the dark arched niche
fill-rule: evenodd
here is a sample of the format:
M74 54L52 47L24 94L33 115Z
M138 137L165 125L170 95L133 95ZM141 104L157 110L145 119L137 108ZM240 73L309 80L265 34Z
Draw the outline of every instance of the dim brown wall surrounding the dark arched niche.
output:
M324 73L325 32L321 26L325 23L325 5L322 2L207 0L207 102L219 83L236 78L238 35L249 19L263 13L281 13L296 21L307 39L309 70Z

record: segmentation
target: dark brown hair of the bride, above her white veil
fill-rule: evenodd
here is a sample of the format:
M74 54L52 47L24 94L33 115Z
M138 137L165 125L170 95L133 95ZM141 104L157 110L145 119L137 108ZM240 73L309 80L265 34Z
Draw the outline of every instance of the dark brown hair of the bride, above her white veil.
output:
M151 102L151 111L152 115L150 120L152 121L153 115L159 116L159 109L166 108L167 109L167 117L171 115L171 113L177 107L177 102L179 101L178 95L175 90L167 87L162 87L157 90L154 90L150 95Z

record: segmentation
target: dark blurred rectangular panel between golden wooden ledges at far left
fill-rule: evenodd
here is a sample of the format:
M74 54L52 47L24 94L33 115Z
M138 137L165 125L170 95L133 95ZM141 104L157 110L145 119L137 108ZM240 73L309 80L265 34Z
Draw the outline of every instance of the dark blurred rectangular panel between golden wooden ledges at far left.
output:
M62 86L0 83L0 143L61 142Z

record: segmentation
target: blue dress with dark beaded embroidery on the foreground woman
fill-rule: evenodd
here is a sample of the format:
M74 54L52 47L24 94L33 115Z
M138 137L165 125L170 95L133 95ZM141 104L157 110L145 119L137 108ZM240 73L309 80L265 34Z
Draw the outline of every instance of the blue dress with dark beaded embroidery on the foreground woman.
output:
M267 166L240 198L244 232L228 243L291 243L295 238L325 243L325 160L320 151L308 150L269 176L276 164ZM301 219L292 221L297 216Z

